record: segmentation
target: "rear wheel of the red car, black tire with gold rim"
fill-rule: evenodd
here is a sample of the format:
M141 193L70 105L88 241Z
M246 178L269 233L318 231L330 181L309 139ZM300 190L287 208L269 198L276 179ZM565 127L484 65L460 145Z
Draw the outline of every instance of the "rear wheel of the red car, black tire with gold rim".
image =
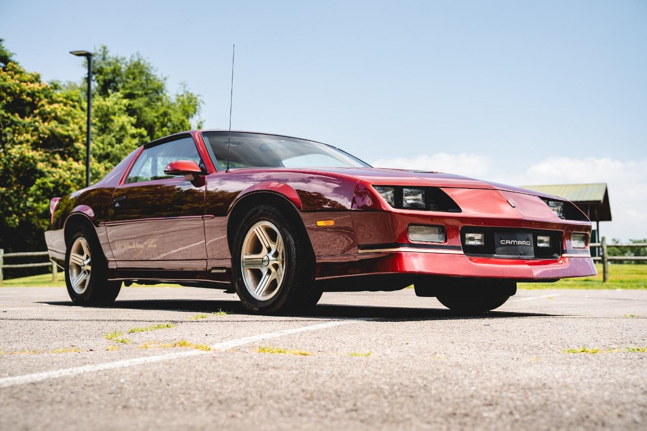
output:
M77 305L111 305L121 282L107 280L108 265L96 236L85 226L72 231L65 252L65 284Z

